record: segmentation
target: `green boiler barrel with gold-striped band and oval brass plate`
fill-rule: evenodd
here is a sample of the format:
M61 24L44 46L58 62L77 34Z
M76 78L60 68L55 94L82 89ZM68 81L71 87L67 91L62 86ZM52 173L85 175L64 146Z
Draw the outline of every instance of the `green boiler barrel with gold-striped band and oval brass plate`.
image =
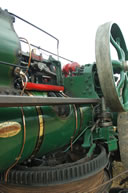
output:
M0 171L70 144L89 125L91 112L73 105L0 108Z

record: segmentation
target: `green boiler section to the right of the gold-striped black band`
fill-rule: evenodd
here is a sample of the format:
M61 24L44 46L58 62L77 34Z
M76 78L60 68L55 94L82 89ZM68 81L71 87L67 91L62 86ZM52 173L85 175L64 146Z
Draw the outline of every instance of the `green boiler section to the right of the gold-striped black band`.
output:
M82 108L82 107L81 107ZM58 149L60 147L69 144L71 141L71 137L76 130L76 121L75 121L75 113L73 106L70 106L70 114L66 118L60 118L56 115L55 111L52 107L42 107L44 114L44 140L38 156L42 155L42 153L47 153ZM76 130L77 134L83 130L86 126L89 125L89 122L92 120L91 117L91 108L83 107L83 123L80 120L80 111L77 110L78 114L78 127Z

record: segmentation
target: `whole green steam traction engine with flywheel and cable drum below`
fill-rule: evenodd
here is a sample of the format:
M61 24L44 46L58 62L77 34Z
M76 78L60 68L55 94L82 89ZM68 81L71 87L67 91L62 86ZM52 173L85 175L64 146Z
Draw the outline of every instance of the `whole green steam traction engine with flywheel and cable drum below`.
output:
M128 52L118 25L98 28L96 63L61 70L17 36L15 17L0 10L0 192L109 191L119 153L128 167Z

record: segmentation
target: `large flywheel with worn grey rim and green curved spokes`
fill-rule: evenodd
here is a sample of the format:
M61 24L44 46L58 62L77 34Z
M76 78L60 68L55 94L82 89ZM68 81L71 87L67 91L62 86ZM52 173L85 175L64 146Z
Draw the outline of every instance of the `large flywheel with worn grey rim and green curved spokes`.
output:
M116 50L113 60L110 48ZM128 51L117 24L105 23L96 33L96 66L107 106L113 112L128 111Z

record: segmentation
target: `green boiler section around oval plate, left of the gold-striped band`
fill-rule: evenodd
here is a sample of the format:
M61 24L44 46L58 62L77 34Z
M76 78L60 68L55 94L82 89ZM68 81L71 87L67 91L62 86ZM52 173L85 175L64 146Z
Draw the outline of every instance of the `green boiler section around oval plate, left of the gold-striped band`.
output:
M23 108L26 122L26 143L20 161L28 158L36 144L38 136L38 117L34 107ZM16 136L0 138L0 170L12 165L20 154L23 145L23 121L21 108L0 108L0 123L16 121L22 125L22 130Z

